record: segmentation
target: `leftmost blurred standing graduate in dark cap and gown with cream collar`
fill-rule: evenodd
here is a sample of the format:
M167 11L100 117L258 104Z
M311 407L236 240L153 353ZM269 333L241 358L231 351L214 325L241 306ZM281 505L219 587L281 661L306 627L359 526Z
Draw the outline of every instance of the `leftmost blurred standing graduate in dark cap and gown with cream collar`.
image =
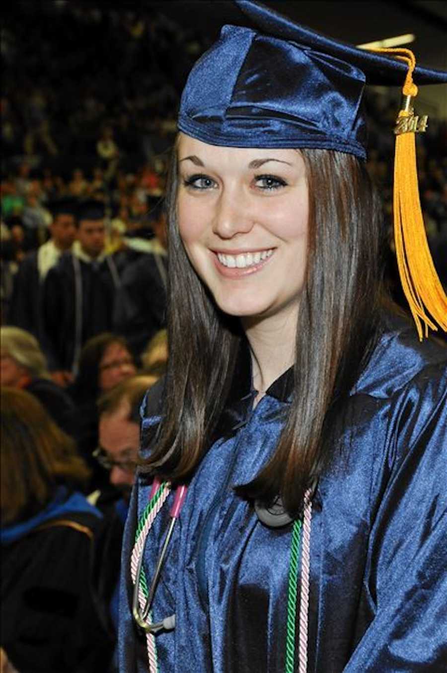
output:
M48 205L52 214L51 238L22 260L14 279L10 324L42 340L42 284L60 255L70 250L76 236L75 203L69 199Z

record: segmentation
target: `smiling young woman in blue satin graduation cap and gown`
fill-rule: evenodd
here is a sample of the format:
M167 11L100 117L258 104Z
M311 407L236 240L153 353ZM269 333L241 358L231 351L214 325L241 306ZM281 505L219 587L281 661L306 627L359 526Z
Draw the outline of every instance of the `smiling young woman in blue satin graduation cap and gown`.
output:
M384 299L362 73L239 4L181 101L121 670L438 671L447 353Z

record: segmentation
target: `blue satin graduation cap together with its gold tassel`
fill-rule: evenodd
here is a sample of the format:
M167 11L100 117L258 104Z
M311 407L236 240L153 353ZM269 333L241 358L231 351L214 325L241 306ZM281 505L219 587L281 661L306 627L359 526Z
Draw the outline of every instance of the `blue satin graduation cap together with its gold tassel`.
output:
M447 330L447 297L428 248L417 186L415 133L425 131L427 118L416 116L411 104L416 82L446 83L447 73L416 67L407 49L366 51L327 38L251 0L224 4L234 7L241 25L223 26L192 68L179 130L211 145L320 148L364 160L364 87L401 85L394 184L399 273L419 338L421 322L425 334L429 326L437 329L435 321Z

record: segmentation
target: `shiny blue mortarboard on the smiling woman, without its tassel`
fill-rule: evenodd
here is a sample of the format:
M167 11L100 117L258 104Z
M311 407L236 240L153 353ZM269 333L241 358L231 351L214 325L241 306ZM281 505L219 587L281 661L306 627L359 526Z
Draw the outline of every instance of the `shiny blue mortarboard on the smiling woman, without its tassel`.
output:
M234 0L227 25L192 69L180 131L229 147L320 147L366 157L365 83L403 85L407 65L299 26L268 7ZM416 83L447 73L416 68Z

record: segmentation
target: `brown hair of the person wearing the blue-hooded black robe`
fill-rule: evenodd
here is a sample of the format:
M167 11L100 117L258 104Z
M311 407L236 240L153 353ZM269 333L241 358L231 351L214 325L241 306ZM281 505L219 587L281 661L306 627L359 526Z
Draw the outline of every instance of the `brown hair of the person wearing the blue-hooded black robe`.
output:
M26 520L60 484L83 487L89 470L75 442L25 390L1 388L1 519Z

